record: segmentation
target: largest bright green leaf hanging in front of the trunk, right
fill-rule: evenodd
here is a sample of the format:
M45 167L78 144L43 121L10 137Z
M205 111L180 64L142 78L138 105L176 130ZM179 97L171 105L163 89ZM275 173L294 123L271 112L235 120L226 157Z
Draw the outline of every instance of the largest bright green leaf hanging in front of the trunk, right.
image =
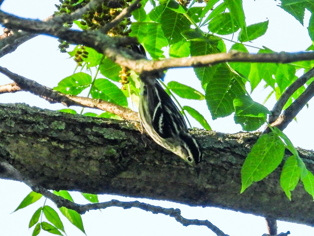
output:
M278 167L284 156L284 143L274 133L261 135L247 155L241 169L241 193Z

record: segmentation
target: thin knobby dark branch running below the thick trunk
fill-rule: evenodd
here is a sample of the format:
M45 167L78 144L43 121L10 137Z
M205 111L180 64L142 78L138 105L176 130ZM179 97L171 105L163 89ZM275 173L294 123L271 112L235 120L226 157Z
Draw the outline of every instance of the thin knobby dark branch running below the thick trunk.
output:
M0 162L0 171L7 175L8 177L14 177L15 179L27 184L34 192L42 194L44 197L49 198L51 201L53 201L58 208L64 206L68 209L72 209L79 214L84 214L86 211L90 210L98 210L98 209L106 209L107 207L111 206L118 206L122 207L123 209L129 209L132 207L142 209L144 211L150 211L153 214L164 214L170 217L174 217L177 222L181 223L184 226L189 225L203 225L207 228L211 229L214 233L216 233L218 236L228 236L224 232L222 232L218 227L213 225L208 220L189 220L181 216L180 209L173 209L173 208L164 208L160 206L153 206L147 203L139 202L139 201L132 201L132 202L122 202L118 200L111 200L108 202L101 202L101 203L92 203L92 204L77 204L74 202L71 202L67 199L64 199L60 196L57 196L51 192L49 192L47 189L41 187L38 184L35 184L32 180L25 178L17 169L15 169L12 165L10 165L6 161Z

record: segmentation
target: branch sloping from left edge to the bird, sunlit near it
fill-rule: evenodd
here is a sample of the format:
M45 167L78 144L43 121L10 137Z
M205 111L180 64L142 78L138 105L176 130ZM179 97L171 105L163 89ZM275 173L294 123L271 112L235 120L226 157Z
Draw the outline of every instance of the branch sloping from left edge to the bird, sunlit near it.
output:
M46 99L48 102L56 103L60 102L65 106L81 106L81 107L90 107L90 108L98 108L103 111L108 111L113 114L120 116L121 118L127 120L135 120L138 121L138 114L128 108L113 104L111 102L103 101L100 99L92 99L88 97L80 97L74 95L64 94L41 84L38 84L34 80L29 80L23 76L12 73L6 68L0 66L0 72L8 76L11 80L13 80L17 86L23 90L31 92L37 96L40 96ZM12 90L12 85L2 85L3 90L9 91ZM18 88L15 88L18 89ZM0 91L1 93L1 91Z

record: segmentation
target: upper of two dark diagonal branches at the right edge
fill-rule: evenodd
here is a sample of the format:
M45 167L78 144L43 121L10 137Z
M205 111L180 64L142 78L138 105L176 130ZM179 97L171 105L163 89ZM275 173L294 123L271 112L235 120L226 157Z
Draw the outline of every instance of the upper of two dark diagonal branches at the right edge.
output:
M301 86L303 86L306 83L306 81L310 80L313 76L314 68L310 69L308 72L301 75L286 89L286 91L283 92L283 94L273 107L272 114L269 116L268 119L269 123L273 123L279 117L284 105L287 103L288 99L292 96L292 94L295 91L297 91Z

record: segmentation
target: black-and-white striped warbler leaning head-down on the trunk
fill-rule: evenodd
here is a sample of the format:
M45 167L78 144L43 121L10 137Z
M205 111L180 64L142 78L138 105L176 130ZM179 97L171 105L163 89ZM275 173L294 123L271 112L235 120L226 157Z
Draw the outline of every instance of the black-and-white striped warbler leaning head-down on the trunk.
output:
M141 45L132 48L146 56ZM157 144L191 165L198 164L202 160L201 147L188 132L181 112L156 77L140 75L139 117L142 125Z

